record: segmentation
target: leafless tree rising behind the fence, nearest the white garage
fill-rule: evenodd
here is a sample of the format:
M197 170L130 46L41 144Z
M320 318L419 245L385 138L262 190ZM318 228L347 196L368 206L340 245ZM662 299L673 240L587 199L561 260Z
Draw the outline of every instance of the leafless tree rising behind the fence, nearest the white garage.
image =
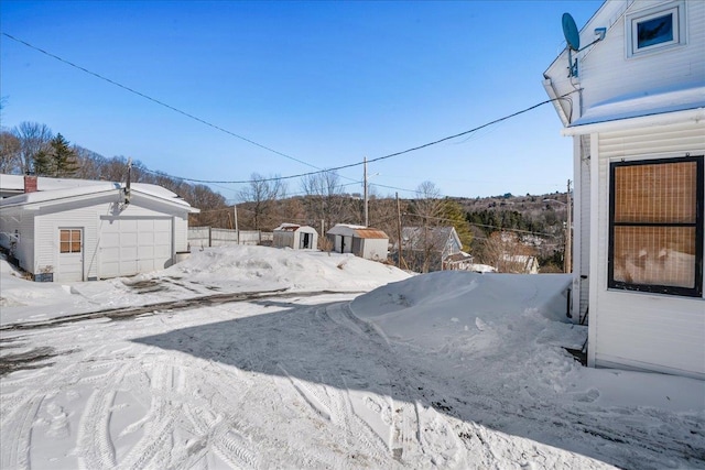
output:
M279 175L264 177L259 173L250 175L250 183L239 193L240 199L250 204L252 228L274 228L276 218L276 201L286 194L286 185L279 179Z

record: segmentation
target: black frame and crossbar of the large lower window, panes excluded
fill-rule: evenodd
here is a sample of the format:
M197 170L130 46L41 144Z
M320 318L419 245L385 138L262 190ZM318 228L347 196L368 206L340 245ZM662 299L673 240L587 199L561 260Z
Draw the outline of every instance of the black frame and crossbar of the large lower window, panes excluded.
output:
M696 171L696 189L695 189L695 222L615 222L616 214L616 182L615 172L619 167L640 166L640 165L658 165L669 163L686 163L695 162ZM652 294L669 294L685 297L703 297L703 226L705 215L703 214L705 197L705 177L703 176L704 156L696 155L670 157L670 159L651 159L651 160L632 160L618 161L609 163L609 233L608 233L608 253L607 253L607 287L611 289L644 292ZM695 285L693 287L671 286L661 284L638 284L625 281L615 281L615 228L616 227L694 227L695 228Z

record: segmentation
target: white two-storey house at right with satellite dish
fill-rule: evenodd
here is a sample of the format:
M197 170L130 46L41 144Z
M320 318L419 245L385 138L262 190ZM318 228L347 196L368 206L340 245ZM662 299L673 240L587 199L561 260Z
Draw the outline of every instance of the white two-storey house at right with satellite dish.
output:
M705 379L704 24L703 1L608 0L544 73L574 142L573 317L589 316L593 367Z

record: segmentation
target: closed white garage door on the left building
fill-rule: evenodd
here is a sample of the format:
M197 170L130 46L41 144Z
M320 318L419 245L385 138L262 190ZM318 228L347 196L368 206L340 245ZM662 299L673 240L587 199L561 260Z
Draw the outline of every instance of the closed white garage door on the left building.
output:
M102 278L163 270L172 262L172 219L100 218Z

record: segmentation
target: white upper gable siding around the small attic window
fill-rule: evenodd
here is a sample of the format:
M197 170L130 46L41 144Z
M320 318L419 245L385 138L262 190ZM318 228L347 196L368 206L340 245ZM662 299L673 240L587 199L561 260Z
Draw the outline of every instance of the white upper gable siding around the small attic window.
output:
M582 97L582 108L612 99L617 96L652 91L675 84L702 83L705 76L705 1L685 1L687 44L664 48L659 52L627 57L625 15L599 20L592 26L609 26L605 40L579 53L579 81L586 90ZM632 2L627 14L653 7L653 2ZM584 32L582 44L593 41L593 29ZM558 65L567 66L567 58L558 58ZM659 73L654 73L658 67ZM668 70L668 72L666 72ZM577 108L577 106L575 107ZM577 109L575 109L578 112ZM574 118L576 116L574 114Z

